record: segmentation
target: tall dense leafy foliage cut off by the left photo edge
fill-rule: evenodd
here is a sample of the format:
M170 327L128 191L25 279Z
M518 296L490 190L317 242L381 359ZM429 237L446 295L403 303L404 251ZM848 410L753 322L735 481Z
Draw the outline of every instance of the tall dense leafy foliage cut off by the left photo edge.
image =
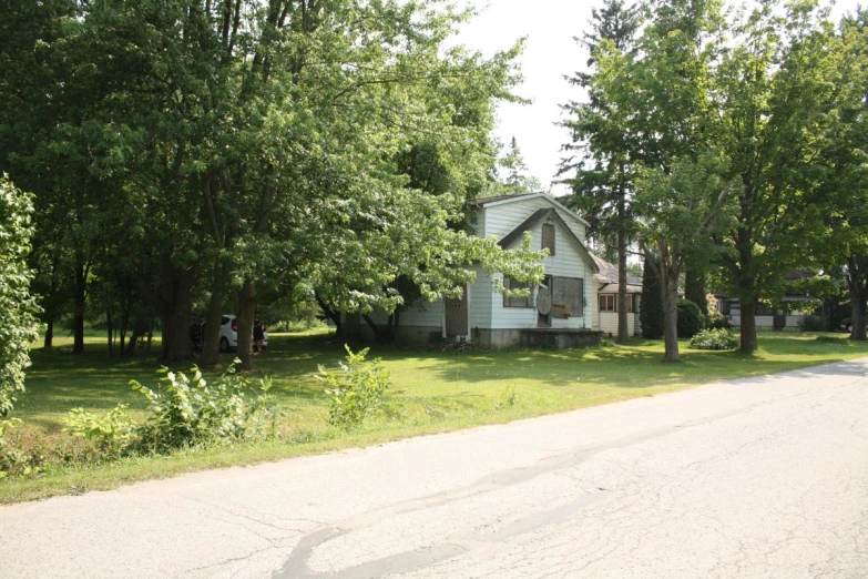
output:
M0 179L0 417L12 410L16 394L24 389L30 343L37 339L38 311L30 295L33 276L27 256L33 235L33 202L7 175Z

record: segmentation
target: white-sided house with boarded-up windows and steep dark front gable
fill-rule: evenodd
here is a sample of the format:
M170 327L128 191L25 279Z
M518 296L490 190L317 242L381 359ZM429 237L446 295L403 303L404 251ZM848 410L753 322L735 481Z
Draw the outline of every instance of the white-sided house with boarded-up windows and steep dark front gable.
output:
M438 299L413 304L400 313L394 327L399 342L430 344L468 342L482 347L518 344L566 347L596 343L599 327L598 263L585 247L588 222L545 193L488 197L473 202L476 234L494 236L504 250L519 245L524 232L533 236L532 247L548 247L543 258L544 280L528 297L504 297L483 270L461 299ZM500 277L507 287L514 281ZM376 324L388 315L374 312ZM370 338L367 324L357 314L345 314L347 337Z

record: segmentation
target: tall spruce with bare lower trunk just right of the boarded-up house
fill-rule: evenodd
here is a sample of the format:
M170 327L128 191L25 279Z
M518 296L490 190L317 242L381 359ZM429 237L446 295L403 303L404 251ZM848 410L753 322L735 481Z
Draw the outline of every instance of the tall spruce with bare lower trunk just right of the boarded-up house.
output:
M590 52L588 67L594 73L575 72L568 80L588 91L586 102L570 102L564 109L571 119L564 123L572 141L564 149L581 153L565 159L560 172L573 173L569 180L573 190L572 205L591 223L591 235L605 244L614 240L617 252L619 307L617 342L630 336L627 324L627 246L633 233L631 187L633 167L631 145L610 95L601 88L604 74L596 60L599 51L622 55L634 50L639 30L639 11L623 0L604 0L603 7L591 11L590 31L580 41Z

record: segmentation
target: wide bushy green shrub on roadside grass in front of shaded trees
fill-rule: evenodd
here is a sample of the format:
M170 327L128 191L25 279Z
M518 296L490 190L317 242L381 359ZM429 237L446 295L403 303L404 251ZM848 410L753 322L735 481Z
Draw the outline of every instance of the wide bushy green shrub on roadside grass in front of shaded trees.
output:
M186 374L162 368L164 388L151 388L132 380L133 389L147 398L149 417L139 428L144 448L164 453L194 444L239 439L248 423L266 404L269 379L259 380L259 394L249 380L235 374L236 359L216 384L210 385L195 366L192 379Z

